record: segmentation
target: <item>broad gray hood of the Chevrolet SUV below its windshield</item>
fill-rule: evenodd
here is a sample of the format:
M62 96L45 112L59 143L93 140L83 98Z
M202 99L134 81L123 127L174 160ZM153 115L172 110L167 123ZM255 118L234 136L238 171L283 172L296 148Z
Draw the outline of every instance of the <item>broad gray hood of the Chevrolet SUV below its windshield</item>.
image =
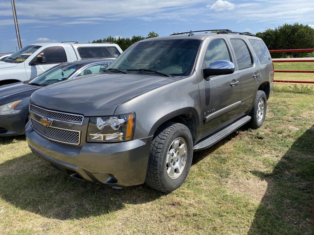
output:
M46 86L33 93L31 102L84 116L107 116L122 102L176 79L143 74L89 75Z

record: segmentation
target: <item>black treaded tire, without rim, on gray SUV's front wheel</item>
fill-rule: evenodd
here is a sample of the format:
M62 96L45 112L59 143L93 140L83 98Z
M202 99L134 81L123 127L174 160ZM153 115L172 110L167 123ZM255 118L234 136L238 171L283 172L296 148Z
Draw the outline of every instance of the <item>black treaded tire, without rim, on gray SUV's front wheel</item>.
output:
M167 174L166 157L172 142L177 138L182 138L186 142L187 154L185 155L186 160L182 171L178 171L181 172L180 175L176 179L171 179ZM163 124L155 132L150 145L145 183L151 188L165 193L176 190L187 178L192 164L192 157L193 140L190 130L181 123L167 122Z

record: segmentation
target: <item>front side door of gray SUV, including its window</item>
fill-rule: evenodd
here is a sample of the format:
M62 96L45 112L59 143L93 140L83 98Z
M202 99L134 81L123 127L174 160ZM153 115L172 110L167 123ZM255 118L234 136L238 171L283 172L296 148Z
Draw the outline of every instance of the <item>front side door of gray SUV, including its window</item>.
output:
M203 68L217 60L233 62L230 48L225 39L214 39L208 44L203 61ZM207 78L208 79L208 78ZM203 92L201 91L201 109L203 114L203 128L201 138L214 133L225 125L233 122L239 115L240 83L239 74L235 71L229 75L210 76L209 81L204 78Z

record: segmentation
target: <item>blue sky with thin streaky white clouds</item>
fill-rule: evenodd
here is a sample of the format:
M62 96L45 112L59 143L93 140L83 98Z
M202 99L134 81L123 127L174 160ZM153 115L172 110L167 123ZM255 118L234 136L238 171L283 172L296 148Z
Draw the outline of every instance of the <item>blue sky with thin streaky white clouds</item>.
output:
M22 45L203 29L252 33L284 23L314 27L313 0L15 0ZM10 0L0 2L0 51L17 46Z

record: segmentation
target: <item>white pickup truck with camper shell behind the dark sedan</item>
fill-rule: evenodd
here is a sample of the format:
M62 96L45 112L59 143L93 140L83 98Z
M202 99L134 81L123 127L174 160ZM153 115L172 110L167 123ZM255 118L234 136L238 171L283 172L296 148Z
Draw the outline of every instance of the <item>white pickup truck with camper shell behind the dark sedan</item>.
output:
M23 47L0 61L0 86L26 81L63 62L115 59L122 53L113 43L38 43Z

